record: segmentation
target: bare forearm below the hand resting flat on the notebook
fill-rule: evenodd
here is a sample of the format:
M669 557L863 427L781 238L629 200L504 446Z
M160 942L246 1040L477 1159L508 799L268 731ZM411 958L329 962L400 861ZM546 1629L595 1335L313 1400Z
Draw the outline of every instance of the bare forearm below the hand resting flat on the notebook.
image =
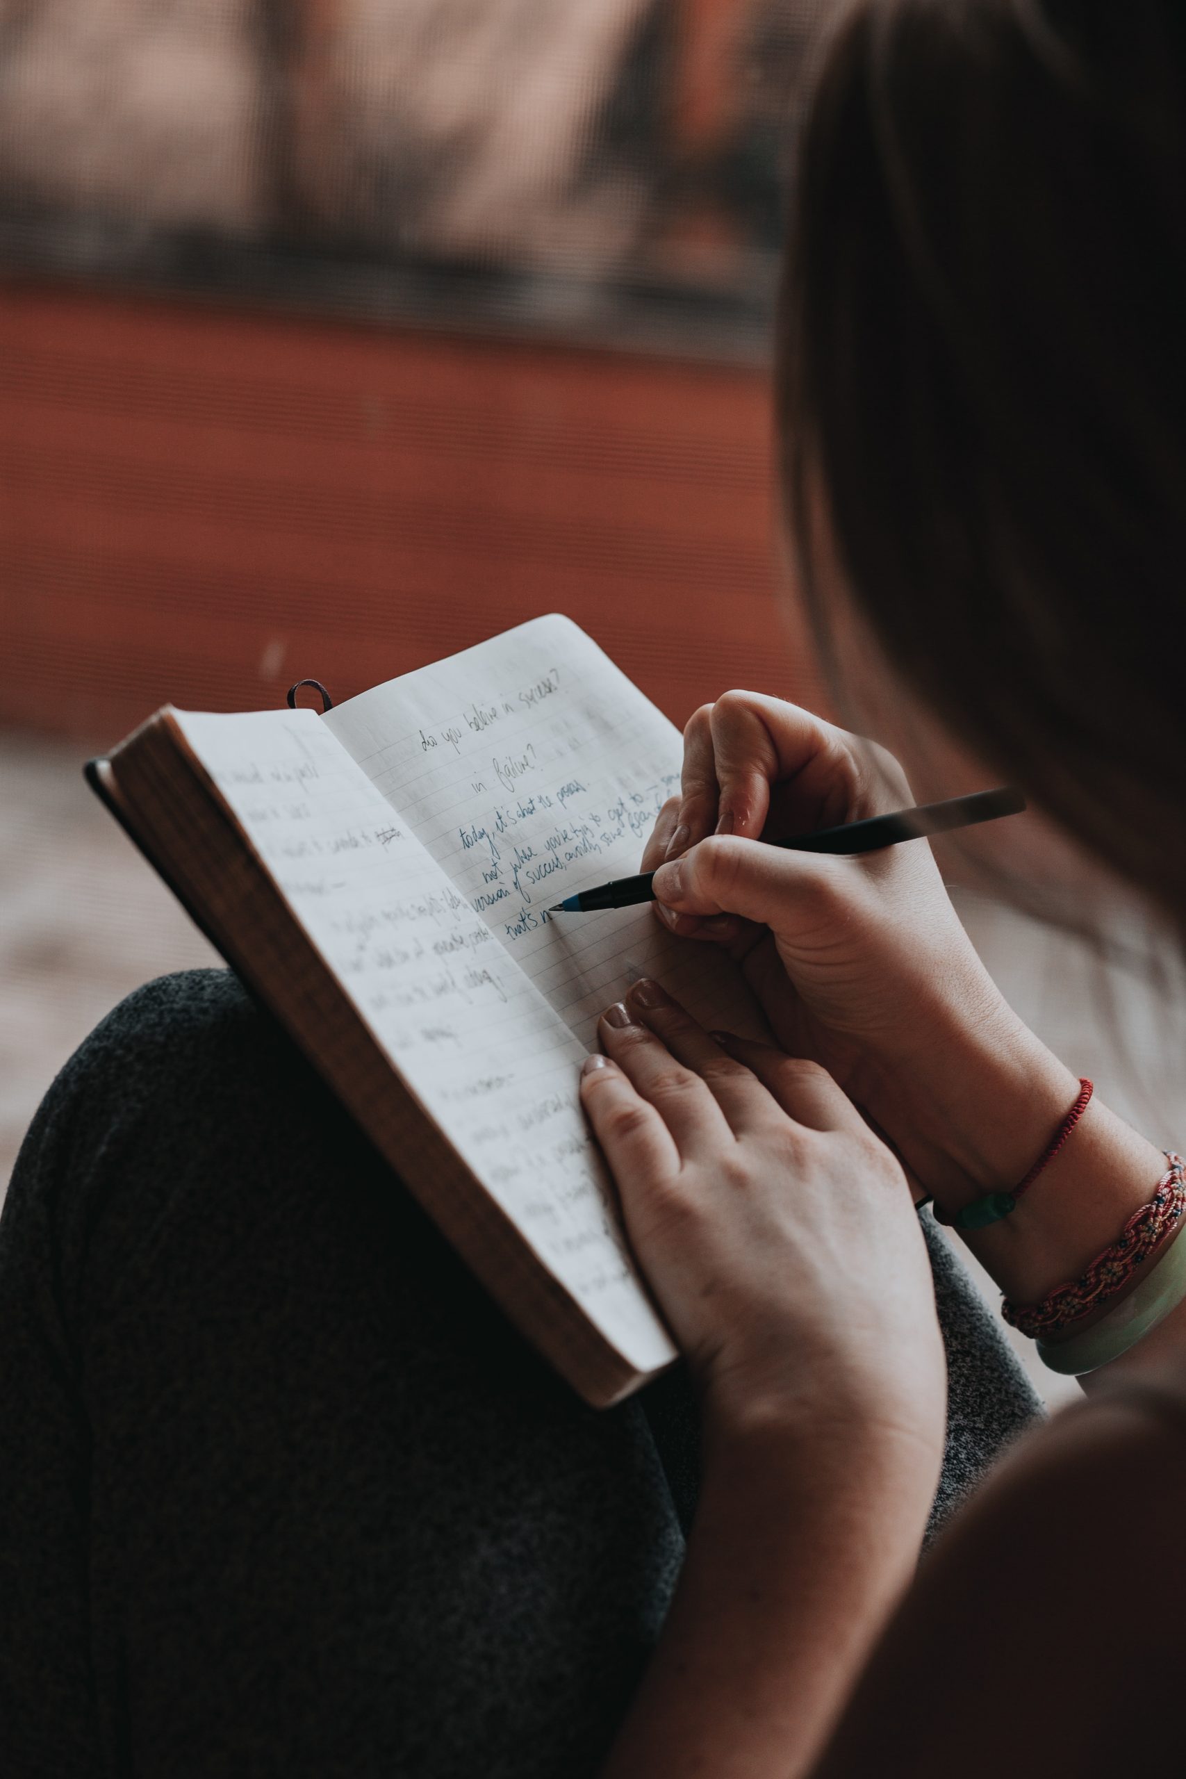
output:
M713 1439L679 1589L605 1779L809 1772L918 1560L937 1452L805 1423Z

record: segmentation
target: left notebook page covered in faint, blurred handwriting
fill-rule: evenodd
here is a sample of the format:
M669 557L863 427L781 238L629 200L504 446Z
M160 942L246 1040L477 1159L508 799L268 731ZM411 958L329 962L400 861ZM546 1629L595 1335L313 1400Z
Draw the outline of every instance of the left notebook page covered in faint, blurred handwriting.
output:
M309 710L176 712L421 1105L637 1370L672 1357L576 1098L581 1044Z

